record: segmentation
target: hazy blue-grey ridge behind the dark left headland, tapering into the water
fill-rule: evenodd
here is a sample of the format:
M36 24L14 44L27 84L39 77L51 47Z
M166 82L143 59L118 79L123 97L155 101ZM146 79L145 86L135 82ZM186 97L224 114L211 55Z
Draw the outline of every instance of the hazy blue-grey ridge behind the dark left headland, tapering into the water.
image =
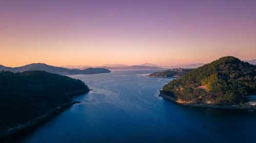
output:
M30 70L47 71L56 74L70 75L70 74L98 74L98 73L110 73L111 71L104 68L88 68L84 70L79 69L67 69L62 67L54 67L43 63L34 63L22 67L5 67L0 65L0 71L11 71L11 72L23 72Z

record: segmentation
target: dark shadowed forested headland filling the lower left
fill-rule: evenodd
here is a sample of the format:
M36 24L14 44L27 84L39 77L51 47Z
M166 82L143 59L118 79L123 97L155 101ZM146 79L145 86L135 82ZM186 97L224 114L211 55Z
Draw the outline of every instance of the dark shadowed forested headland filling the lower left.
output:
M46 71L0 72L0 137L49 118L89 91L79 79Z

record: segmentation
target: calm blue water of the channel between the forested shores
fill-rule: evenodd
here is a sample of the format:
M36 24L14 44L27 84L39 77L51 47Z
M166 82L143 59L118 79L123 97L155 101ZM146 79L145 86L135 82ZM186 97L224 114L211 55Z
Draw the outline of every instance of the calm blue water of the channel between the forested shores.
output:
M256 113L176 105L152 70L75 75L90 93L21 142L256 142Z

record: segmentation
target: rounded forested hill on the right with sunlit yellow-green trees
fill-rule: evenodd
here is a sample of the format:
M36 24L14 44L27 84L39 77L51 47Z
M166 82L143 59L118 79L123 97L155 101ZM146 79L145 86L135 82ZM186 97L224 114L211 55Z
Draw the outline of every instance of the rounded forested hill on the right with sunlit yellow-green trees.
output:
M256 94L256 66L225 56L164 85L165 95L204 104L243 104Z

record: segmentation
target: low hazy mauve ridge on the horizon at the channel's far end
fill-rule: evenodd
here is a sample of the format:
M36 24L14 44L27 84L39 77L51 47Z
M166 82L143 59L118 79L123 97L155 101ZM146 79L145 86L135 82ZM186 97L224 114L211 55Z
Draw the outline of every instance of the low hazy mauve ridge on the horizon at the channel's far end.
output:
M97 68L105 68L109 70L154 70L154 69L163 69L161 67L151 67L151 66L118 66L118 67L97 67Z

